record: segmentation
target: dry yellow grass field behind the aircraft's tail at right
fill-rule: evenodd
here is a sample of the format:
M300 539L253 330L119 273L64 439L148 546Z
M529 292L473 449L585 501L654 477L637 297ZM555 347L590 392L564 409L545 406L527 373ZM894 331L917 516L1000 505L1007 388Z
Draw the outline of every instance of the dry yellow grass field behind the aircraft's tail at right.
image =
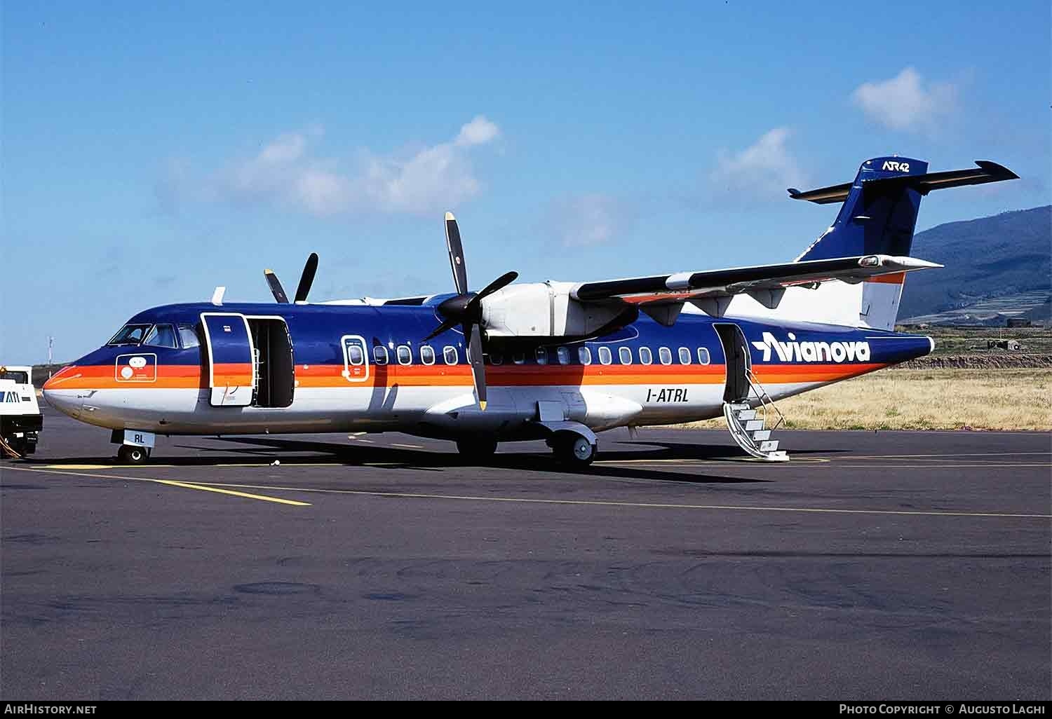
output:
M882 370L778 407L789 429L1049 431L1052 370ZM723 426L723 419L684 425Z

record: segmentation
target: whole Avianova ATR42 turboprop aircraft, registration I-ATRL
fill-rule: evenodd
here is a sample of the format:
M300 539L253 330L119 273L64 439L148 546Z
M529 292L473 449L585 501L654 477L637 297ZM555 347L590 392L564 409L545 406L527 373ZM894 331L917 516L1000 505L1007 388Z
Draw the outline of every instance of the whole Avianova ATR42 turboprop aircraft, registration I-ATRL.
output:
M928 172L867 160L853 182L794 200L843 203L795 261L601 282L468 290L460 230L446 213L456 293L307 303L269 270L277 305L165 305L44 385L48 404L113 430L125 463L156 435L397 431L456 440L473 459L500 441L546 439L586 466L595 433L723 414L750 455L785 460L774 402L928 354L894 331L920 198L1015 179L1000 165Z

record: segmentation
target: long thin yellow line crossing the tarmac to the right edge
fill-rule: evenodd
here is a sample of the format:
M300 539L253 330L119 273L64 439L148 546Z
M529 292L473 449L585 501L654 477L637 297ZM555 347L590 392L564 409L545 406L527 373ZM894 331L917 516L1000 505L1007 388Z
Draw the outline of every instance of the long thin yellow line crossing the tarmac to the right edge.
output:
M89 475L90 476L90 475ZM1015 519L1052 519L1052 514L1008 514L999 512L924 512L907 510L863 510L827 509L816 507L760 507L748 505L672 505L645 501L606 501L601 499L531 499L527 497L484 497L461 494L418 494L410 492L368 492L365 490L328 490L311 487L275 487L267 485L236 485L228 482L201 482L209 487L237 487L240 489L265 489L287 492L313 492L319 494L351 494L371 497L396 497L404 499L457 499L461 501L499 501L527 505L569 505L585 507L629 507L642 509L681 510L737 510L751 512L804 512L817 514L889 514L922 517L1008 517Z

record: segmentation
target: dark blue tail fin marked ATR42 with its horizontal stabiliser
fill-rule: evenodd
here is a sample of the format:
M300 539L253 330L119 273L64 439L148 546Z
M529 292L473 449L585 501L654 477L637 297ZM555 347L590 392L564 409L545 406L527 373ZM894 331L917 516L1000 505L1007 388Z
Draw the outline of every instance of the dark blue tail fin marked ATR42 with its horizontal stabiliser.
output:
M949 172L928 172L928 163L911 158L873 158L858 168L854 182L801 192L793 200L817 204L843 202L833 224L796 261L866 254L909 256L920 198L933 189L1014 180L1018 176L996 163ZM859 324L892 329L898 314L905 274L882 275L863 283Z

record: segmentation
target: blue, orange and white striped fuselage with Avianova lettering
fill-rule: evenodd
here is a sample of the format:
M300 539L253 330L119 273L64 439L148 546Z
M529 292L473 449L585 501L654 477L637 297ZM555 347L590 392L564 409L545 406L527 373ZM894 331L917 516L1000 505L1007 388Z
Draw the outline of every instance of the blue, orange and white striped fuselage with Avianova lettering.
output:
M453 329L423 341L441 320L439 300L156 307L125 326L144 329L77 359L47 382L44 395L82 422L160 434L391 430L507 440L539 436L534 423L545 411L593 431L719 416L743 362L750 378L777 399L932 349L925 336L867 328L687 313L665 327L641 315L587 341L488 343L489 402L482 411L464 335ZM203 314L218 316L218 324L217 316L209 321L210 338L202 332ZM247 317L249 336L266 327L270 340L261 334L252 343L260 347L242 352L231 340L241 331L239 315ZM224 317L234 323L232 334L223 334L231 329ZM291 345L287 361L275 340L283 326ZM731 326L741 330L744 359L728 362ZM154 328L162 331L143 344ZM272 356L261 352L264 346ZM240 388L225 387L231 383Z

